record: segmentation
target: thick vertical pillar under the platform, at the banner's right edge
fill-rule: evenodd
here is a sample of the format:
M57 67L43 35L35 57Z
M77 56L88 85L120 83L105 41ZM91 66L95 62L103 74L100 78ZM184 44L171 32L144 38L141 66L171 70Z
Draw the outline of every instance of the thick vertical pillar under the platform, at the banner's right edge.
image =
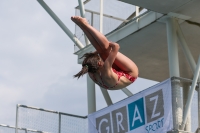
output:
M172 17L168 17L166 18L165 23L167 27L170 77L180 77L175 19ZM178 130L179 125L182 122L183 105L180 89L180 80L177 79L172 80L172 112L174 130Z

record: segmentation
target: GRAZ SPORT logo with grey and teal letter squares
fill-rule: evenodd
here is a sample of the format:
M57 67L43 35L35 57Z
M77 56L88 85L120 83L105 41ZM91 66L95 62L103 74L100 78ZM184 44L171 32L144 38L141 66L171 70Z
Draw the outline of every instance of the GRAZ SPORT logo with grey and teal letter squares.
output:
M148 123L147 133L163 127L164 100L162 89L142 97L127 106L96 118L99 133L126 133Z

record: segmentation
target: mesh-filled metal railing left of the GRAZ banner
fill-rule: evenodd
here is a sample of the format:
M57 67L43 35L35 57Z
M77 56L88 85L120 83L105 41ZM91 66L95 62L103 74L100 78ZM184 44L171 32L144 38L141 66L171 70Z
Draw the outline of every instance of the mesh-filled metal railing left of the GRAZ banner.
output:
M17 105L16 132L19 129L35 129L48 133L87 133L87 116Z

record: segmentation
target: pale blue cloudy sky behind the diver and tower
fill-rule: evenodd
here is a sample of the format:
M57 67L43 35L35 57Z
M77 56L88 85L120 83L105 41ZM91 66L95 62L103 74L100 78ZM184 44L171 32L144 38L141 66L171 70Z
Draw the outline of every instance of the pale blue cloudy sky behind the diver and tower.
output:
M74 32L70 17L77 1L46 3ZM0 124L15 125L16 104L87 115L86 77L74 44L36 0L2 0L0 4ZM157 82L139 78L128 88L136 93ZM97 109L106 107L96 86ZM109 91L113 102L126 98Z

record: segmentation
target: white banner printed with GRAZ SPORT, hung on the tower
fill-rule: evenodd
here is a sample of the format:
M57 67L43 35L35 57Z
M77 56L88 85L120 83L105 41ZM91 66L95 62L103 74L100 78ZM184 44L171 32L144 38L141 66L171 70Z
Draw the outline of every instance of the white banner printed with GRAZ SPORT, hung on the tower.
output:
M166 133L173 128L171 80L88 115L89 133Z

